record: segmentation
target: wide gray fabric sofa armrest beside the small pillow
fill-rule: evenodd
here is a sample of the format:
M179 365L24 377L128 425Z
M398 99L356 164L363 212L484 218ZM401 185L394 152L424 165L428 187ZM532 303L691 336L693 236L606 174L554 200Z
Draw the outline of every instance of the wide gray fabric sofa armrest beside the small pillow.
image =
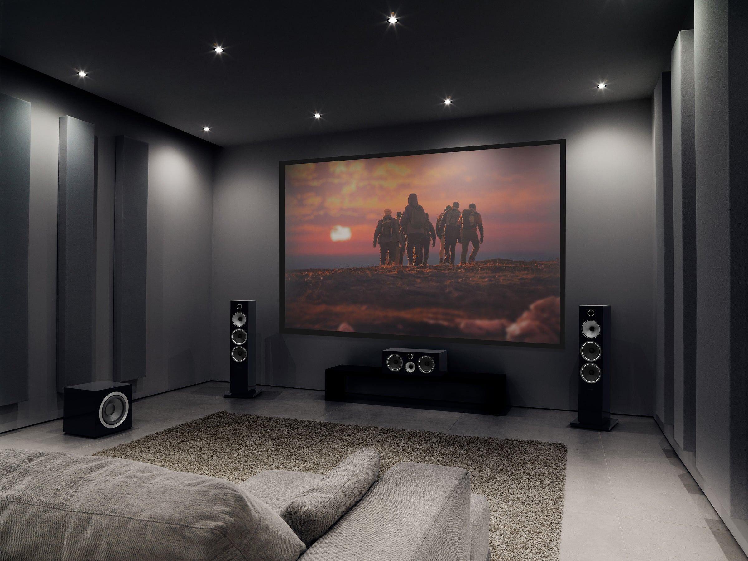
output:
M469 561L470 474L404 462L299 561Z

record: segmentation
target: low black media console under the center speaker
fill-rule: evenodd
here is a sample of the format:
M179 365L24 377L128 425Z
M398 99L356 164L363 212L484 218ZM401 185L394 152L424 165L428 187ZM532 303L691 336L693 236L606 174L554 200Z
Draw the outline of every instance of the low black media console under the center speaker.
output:
M457 408L499 415L506 410L506 375L402 375L383 373L381 367L340 364L325 370L325 399Z

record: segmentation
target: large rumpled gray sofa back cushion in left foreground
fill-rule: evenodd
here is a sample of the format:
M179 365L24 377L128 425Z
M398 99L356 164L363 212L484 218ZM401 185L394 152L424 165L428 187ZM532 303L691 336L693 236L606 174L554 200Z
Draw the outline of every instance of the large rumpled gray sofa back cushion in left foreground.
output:
M0 450L6 559L294 561L306 549L225 479L130 460Z

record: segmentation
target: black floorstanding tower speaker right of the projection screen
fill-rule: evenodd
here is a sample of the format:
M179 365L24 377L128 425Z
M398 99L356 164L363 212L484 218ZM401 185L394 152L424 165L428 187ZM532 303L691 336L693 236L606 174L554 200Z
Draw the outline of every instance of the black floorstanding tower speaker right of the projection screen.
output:
M618 424L610 418L610 306L579 307L579 417L571 426L609 431Z

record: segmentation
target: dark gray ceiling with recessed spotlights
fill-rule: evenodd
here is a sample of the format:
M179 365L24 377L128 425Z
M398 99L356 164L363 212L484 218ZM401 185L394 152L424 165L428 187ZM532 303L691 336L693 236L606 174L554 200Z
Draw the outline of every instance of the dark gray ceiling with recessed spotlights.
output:
M682 0L4 0L0 50L225 146L649 97L692 13Z

